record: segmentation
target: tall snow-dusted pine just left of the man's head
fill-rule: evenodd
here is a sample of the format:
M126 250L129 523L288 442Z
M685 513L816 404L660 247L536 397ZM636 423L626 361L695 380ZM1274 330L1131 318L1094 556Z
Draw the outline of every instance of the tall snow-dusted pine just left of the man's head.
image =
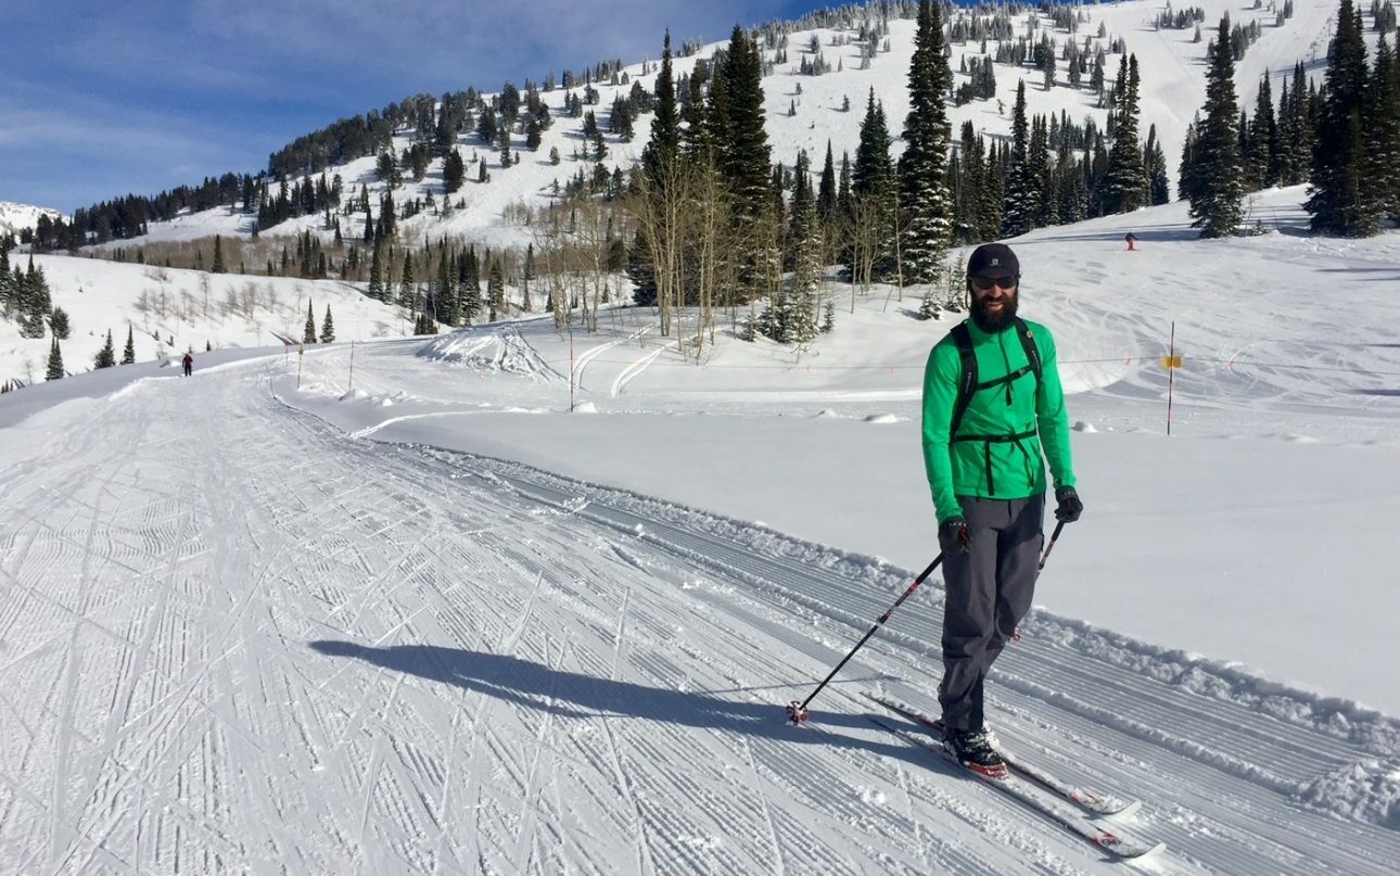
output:
M900 206L906 213L900 250L904 280L931 283L952 236L952 202L945 183L949 141L944 95L952 85L944 57L941 3L920 0L914 56L909 66L909 115L899 158Z

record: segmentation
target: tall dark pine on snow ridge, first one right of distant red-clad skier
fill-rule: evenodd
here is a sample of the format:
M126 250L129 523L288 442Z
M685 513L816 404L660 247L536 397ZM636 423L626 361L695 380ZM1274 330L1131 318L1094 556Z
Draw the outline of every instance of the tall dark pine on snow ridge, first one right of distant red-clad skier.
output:
M1205 74L1205 119L1197 130L1196 162L1190 190L1193 228L1203 238L1235 234L1243 216L1239 108L1235 102L1235 56L1231 50L1229 15L1221 18Z

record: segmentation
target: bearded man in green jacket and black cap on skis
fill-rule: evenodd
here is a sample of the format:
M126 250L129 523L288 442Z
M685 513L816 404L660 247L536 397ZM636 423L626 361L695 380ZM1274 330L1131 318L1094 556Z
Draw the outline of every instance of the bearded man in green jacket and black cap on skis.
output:
M967 260L972 318L928 354L924 372L924 466L944 551L945 743L963 765L988 775L1005 764L987 739L983 683L1030 610L1044 543L1046 472L1056 518L1084 511L1070 462L1070 423L1054 339L1016 316L1021 264L1004 243Z

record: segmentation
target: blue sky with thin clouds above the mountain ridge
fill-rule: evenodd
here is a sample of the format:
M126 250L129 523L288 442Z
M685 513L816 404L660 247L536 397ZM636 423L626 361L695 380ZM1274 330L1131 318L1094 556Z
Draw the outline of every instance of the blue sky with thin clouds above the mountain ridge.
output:
M816 0L6 0L0 200L154 195L409 94L522 84Z

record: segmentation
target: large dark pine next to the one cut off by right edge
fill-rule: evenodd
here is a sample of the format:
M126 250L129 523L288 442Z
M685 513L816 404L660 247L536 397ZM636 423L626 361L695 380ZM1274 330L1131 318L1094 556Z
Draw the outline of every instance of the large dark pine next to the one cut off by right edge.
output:
M1313 231L1340 236L1375 234L1379 217L1366 190L1371 181L1365 178L1362 137L1366 80L1361 13L1351 0L1341 0L1337 32L1327 52L1327 84L1308 190Z

